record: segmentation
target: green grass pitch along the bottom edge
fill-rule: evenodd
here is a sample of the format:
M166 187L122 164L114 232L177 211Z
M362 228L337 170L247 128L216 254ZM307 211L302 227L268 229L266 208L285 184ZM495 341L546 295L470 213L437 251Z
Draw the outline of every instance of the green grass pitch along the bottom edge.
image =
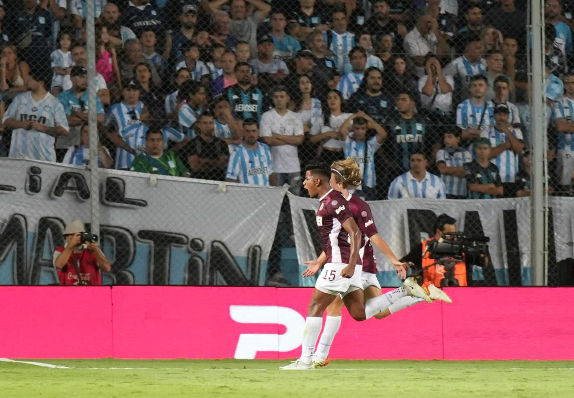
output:
M34 361L34 360L25 360ZM37 360L0 362L3 397L572 397L574 362Z

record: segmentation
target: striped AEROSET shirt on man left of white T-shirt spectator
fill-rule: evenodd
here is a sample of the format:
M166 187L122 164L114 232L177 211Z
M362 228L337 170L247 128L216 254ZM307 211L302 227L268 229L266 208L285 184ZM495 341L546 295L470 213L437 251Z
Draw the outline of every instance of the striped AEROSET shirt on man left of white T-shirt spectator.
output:
M273 174L273 162L269 147L262 142L257 149L248 149L245 144L231 154L227 165L226 178L243 184L269 186L269 176Z

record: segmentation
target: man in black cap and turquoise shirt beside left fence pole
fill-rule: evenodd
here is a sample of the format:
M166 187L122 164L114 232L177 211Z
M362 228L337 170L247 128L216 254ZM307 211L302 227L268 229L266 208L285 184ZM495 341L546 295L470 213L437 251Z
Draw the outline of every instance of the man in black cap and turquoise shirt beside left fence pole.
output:
M69 147L79 145L80 128L88 120L88 71L80 65L74 65L70 72L72 88L63 91L58 96L64 106L64 112L68 119L69 133L56 138L56 158L61 161ZM96 96L96 121L103 123L104 107Z

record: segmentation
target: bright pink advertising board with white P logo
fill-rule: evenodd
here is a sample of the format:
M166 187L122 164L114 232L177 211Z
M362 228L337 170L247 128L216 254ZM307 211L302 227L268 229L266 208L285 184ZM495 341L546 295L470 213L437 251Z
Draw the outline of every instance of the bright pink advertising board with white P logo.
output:
M331 358L574 360L569 288L451 288L378 321L347 314ZM293 358L311 289L0 287L0 357Z

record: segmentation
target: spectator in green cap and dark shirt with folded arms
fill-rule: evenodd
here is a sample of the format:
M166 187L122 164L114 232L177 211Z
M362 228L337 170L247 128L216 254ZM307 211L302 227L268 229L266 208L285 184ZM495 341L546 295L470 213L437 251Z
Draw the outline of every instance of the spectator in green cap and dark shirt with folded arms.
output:
M502 196L501 176L498 167L490 161L490 140L481 137L474 142L476 158L464 164L469 199L492 199Z

